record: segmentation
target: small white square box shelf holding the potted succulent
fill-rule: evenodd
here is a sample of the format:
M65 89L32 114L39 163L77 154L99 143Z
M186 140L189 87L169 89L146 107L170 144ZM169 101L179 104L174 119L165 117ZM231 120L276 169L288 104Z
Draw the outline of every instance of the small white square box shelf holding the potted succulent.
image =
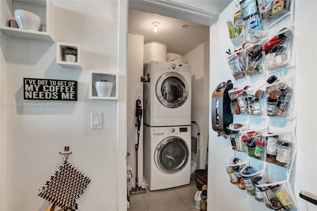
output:
M77 50L76 61L66 61L65 60L65 53L63 52L66 49L75 49ZM81 57L82 57L82 50L81 46L78 44L71 44L71 43L56 43L56 63L62 67L69 67L69 68L82 68L81 66Z

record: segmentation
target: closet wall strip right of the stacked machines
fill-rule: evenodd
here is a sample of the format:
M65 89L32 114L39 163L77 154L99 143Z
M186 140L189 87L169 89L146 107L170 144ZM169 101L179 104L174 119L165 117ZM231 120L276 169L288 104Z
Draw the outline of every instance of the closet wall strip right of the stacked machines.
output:
M200 130L200 164L205 168L209 132L209 43L203 43L183 56L183 62L192 65L192 112L191 119ZM197 137L197 126L192 124L192 136ZM195 157L194 160L197 160Z

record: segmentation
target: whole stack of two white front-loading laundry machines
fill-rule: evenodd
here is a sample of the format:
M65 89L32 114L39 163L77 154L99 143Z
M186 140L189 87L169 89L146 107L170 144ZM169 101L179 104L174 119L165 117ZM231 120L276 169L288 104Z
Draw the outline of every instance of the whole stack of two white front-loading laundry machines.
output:
M144 74L145 182L151 191L189 184L191 65L152 60Z

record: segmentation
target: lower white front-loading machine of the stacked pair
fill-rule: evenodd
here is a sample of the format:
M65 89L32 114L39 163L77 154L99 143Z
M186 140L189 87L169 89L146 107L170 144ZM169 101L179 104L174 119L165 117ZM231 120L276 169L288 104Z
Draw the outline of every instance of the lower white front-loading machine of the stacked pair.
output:
M190 183L190 126L144 127L143 178L151 191Z

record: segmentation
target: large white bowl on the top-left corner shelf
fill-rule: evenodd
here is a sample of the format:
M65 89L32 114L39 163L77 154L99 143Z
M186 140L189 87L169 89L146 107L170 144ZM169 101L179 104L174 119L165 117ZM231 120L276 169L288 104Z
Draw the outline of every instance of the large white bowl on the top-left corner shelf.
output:
M16 9L14 11L14 17L20 29L35 31L40 30L41 18L33 12L23 9Z

